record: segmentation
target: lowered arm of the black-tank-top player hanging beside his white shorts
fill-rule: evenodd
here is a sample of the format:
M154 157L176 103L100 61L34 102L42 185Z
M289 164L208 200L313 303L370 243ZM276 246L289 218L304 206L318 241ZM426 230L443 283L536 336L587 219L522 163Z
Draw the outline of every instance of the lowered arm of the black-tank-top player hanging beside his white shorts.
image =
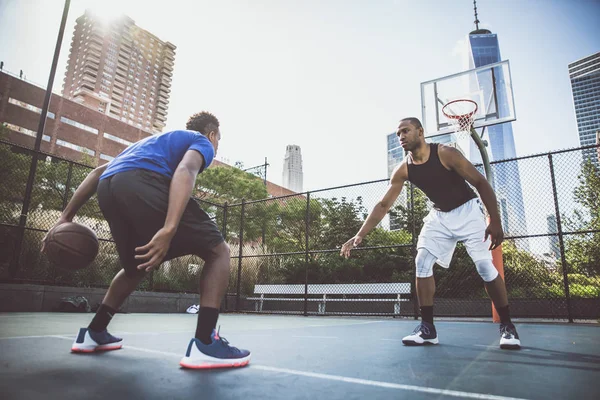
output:
M449 146L440 146L439 149L439 157L442 164L446 168L456 171L457 174L462 176L479 192L481 200L490 215L490 222L485 231L484 240L487 240L487 237L491 236L492 243L490 244L490 250L495 249L504 240L504 232L502 231L502 221L500 220L498 200L496 199L494 189L460 151Z

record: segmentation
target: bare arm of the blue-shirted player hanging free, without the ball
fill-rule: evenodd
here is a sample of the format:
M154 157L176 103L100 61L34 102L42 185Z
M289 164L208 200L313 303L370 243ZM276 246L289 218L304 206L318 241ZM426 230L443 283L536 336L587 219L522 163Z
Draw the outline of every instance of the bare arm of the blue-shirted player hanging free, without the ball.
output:
M164 226L159 229L150 242L144 246L136 247L135 258L144 263L138 269L151 271L157 268L167 255L171 240L177 232L179 221L185 211L200 168L204 165L204 157L195 150L188 150L175 169L171 186L169 187L169 205Z

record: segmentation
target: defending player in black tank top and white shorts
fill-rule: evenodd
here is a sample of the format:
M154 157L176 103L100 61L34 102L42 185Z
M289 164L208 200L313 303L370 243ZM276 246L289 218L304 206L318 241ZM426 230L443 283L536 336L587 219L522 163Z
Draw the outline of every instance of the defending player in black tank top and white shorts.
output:
M500 347L520 348L519 336L510 319L504 280L492 264L491 250L498 247L504 239L492 187L455 148L426 143L423 127L417 118L400 121L397 135L408 155L394 170L387 192L358 233L343 244L341 255L350 256L352 248L358 246L365 235L388 213L404 183L412 182L423 190L434 203L434 208L424 219L415 259L421 324L411 335L404 337L402 342L405 345L439 342L433 324L433 266L437 263L448 268L456 243L461 241L473 259L500 315ZM487 226L480 200L467 182L477 190L488 210L490 220Z

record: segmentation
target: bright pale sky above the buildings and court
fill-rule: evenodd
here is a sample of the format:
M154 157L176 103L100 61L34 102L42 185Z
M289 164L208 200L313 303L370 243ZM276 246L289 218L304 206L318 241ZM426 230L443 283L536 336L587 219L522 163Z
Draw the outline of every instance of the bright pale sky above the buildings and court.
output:
M46 86L63 5L0 0L6 70ZM386 134L421 116L421 82L464 69L474 28L471 0L73 0L56 92L86 8L124 13L177 46L167 130L211 111L218 157L245 167L266 157L275 183L286 145L299 145L305 190L385 178ZM478 11L511 63L517 154L577 146L567 65L600 50L600 1L480 0Z

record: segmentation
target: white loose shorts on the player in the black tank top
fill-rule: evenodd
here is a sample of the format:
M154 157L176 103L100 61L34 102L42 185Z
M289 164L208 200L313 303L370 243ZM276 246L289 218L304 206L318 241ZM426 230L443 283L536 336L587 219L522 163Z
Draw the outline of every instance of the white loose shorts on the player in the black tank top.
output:
M458 242L464 243L473 262L492 259L491 239L483 240L487 224L479 198L448 212L432 209L423 222L417 249L426 249L433 254L438 265L450 266Z

